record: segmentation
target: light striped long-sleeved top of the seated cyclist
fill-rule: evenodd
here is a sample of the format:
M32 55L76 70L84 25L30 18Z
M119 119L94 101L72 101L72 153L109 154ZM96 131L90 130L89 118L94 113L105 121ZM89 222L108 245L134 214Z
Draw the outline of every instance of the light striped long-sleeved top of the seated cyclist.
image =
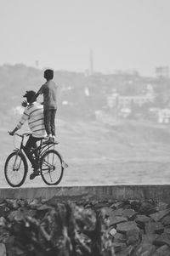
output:
M31 105L28 105L16 127L20 129L26 120L28 120L28 125L33 137L43 138L46 136L43 105L38 102L33 102Z

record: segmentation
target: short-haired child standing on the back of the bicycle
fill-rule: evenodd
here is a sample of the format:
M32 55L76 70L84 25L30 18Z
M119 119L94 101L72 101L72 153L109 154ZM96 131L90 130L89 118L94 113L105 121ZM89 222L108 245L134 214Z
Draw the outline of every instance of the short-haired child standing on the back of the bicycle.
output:
M55 140L55 115L57 111L57 85L53 81L54 71L46 70L43 76L47 82L42 84L42 87L37 92L35 98L39 94L43 94L43 107L44 107L44 124L45 129L48 134L48 142L53 142ZM32 100L35 100L32 99Z

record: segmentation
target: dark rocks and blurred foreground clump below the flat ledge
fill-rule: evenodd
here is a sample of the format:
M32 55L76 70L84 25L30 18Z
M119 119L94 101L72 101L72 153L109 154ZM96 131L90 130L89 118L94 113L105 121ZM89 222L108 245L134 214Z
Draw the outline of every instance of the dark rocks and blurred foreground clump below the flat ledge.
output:
M0 202L0 256L168 256L170 205L153 200Z

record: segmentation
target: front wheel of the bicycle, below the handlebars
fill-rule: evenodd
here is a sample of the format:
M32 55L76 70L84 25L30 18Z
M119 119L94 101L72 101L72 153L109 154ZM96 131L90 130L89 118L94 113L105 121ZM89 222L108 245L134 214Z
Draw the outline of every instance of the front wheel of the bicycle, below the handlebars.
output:
M27 171L28 165L23 154L13 152L8 156L4 167L4 174L8 185L12 187L23 185L26 180Z

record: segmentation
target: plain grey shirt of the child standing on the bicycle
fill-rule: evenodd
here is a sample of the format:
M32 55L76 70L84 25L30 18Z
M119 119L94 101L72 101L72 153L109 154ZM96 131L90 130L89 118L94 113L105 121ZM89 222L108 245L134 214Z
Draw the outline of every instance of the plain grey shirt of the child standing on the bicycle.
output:
M42 84L38 94L43 94L44 110L57 109L57 85L53 80Z

